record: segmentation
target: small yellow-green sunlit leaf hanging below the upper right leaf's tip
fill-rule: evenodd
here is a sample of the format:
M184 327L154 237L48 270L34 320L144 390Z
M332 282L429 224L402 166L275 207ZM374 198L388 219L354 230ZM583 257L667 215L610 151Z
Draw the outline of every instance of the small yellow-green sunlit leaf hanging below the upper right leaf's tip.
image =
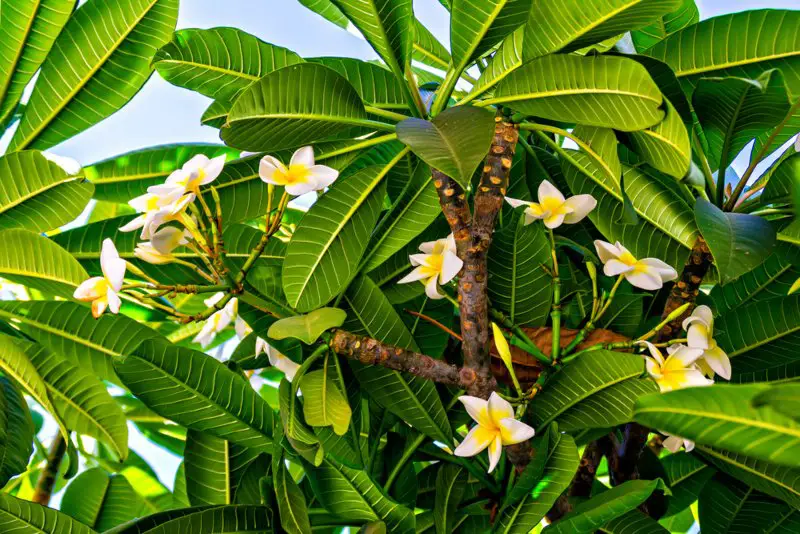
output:
M631 132L631 145L657 170L681 179L689 172L692 157L689 134L675 107L667 99L664 102L667 109L664 120L646 130Z

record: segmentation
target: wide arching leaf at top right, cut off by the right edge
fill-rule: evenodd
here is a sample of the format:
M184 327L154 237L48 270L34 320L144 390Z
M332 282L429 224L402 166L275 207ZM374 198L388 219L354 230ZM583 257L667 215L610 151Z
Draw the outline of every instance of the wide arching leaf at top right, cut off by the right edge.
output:
M722 15L674 33L646 53L667 63L687 90L701 78L755 79L778 68L792 98L800 95L800 11L760 9ZM738 36L731 40L730 36ZM713 53L709 53L713 52Z

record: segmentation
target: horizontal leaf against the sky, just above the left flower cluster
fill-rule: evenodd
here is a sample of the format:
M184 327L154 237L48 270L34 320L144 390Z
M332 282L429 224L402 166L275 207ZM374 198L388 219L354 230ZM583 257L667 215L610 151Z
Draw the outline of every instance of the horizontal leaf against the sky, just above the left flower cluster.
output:
M163 183L172 171L180 169L197 154L209 158L226 154L232 160L238 157L239 151L201 143L162 145L99 161L84 167L83 175L94 184L95 198L128 202L144 194L149 186Z

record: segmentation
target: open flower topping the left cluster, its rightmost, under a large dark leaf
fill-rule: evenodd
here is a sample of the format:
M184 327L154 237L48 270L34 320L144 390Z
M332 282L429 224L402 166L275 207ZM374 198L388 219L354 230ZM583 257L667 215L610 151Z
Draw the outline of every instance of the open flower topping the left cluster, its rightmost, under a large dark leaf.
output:
M273 156L264 156L258 175L266 183L284 186L290 195L300 196L325 189L339 177L339 171L315 165L314 149L304 146L292 155L288 167Z

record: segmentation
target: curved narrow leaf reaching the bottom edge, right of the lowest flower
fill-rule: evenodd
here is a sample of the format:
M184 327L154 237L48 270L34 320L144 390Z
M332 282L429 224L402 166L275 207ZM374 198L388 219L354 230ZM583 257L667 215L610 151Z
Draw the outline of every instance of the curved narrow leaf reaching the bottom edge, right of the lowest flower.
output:
M544 474L538 484L515 506L506 507L497 517L495 533L527 534L572 482L580 461L575 441L567 434L550 444Z

